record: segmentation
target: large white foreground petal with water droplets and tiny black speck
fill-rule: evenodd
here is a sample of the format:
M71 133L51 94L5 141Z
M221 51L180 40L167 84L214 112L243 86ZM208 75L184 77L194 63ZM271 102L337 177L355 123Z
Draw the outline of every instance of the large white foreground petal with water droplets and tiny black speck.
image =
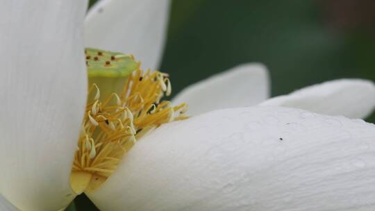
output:
M375 210L375 126L292 108L209 112L140 140L101 210Z

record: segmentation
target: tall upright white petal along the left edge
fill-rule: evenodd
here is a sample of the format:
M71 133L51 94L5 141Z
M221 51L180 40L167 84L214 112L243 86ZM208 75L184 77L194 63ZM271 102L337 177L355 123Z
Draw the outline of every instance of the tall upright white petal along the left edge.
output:
M0 193L19 210L58 210L85 109L87 1L0 7Z

